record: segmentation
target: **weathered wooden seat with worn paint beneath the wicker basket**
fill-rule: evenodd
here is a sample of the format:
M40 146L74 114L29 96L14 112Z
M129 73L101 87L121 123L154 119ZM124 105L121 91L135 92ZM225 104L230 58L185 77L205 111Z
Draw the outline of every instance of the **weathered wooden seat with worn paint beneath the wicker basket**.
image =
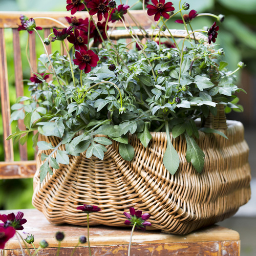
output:
M13 211L16 212L17 210ZM24 218L24 232L32 233L35 246L45 239L49 247L39 251L39 255L55 255L58 242L54 236L57 231L65 232L65 239L61 242L60 255L70 255L82 234L87 237L87 228L72 225L50 224L44 215L36 209L22 210ZM10 211L0 211L8 214ZM20 232L24 238L27 234ZM93 255L127 255L131 228L115 228L106 226L90 227L90 243ZM29 245L30 248L32 246ZM31 252L34 252L31 249ZM0 253L1 255L1 253ZM21 255L16 238L6 244L6 255ZM88 244L79 246L74 255L89 255ZM136 230L133 236L131 255L136 256L167 256L167 255L207 255L207 256L239 256L240 237L237 231L217 225L204 228L193 233L178 236L161 231Z

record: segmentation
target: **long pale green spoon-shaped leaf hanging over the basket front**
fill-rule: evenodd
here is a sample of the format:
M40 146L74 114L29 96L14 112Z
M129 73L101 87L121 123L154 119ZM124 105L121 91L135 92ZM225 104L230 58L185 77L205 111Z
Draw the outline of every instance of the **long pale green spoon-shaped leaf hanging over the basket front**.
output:
M163 164L164 167L168 170L168 172L174 175L179 168L180 158L172 144L172 141L170 141L168 122L166 122L165 129L167 137L167 148L163 156Z

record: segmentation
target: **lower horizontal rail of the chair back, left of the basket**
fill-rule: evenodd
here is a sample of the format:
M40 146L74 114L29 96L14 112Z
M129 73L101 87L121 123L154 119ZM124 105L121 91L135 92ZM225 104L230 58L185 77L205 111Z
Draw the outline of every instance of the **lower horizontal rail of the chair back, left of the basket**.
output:
M36 161L0 162L0 179L33 178Z

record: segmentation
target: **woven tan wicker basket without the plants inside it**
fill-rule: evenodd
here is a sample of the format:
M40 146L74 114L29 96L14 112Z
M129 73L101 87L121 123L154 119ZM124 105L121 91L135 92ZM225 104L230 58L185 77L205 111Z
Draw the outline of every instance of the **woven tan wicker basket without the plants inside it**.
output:
M174 31L173 31L174 32ZM177 31L176 37L185 33ZM127 37L120 34L117 38ZM196 35L197 36L197 35ZM198 36L201 36L199 34ZM115 35L112 38L117 39ZM197 37L197 39L199 39ZM218 105L219 106L219 105ZM151 215L151 227L166 232L186 234L234 215L250 199L249 148L244 140L243 125L227 121L223 108L217 116L209 116L206 127L221 129L228 140L218 134L199 131L196 140L205 154L204 169L198 174L187 163L183 136L171 140L180 157L180 166L173 176L162 159L167 145L166 133L151 133L152 140L144 148L136 135L129 135L135 157L128 162L119 155L119 143L107 146L104 160L92 156L70 156L69 165L53 169L40 183L42 153L37 154L34 176L33 205L55 224L86 225L87 215L76 210L81 204L99 206L102 210L90 215L90 225L125 226L124 211L133 206ZM60 139L41 137L56 146ZM60 146L65 150L65 145Z

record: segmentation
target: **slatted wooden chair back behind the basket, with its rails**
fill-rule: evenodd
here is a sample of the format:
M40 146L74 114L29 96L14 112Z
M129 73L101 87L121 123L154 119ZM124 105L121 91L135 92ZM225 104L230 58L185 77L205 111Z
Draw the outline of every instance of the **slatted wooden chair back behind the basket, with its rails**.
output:
M0 162L0 179L14 179L14 178L31 178L36 170L35 160L28 161L27 144L19 145L19 161L14 161L13 141L6 140L6 138L12 134L10 119L11 119L11 105L9 96L8 73L15 74L15 91L16 97L24 95L24 83L23 83L23 63L22 63L22 51L20 43L20 33L18 31L18 24L20 24L20 15L26 15L30 17L50 17L59 20L59 22L68 25L65 16L70 16L68 12L3 12L0 11L0 86L1 86L1 108L2 108L2 126L3 126L3 146L5 161ZM131 14L139 20L140 24L144 27L151 25L150 20L146 18L144 12L141 10L131 11ZM87 12L79 12L75 15L77 18L89 17ZM136 26L134 19L129 15L125 16L126 26ZM50 19L39 18L36 19L36 26L42 27L45 37L51 33L53 27L60 27L56 22ZM113 23L109 23L109 26L114 26ZM116 27L123 27L121 22L118 22ZM7 56L10 52L6 51L6 37L5 32L7 29L12 30L13 36L13 61L14 67L8 67ZM115 39L113 36L112 39ZM131 39L126 39L129 42ZM36 40L35 33L29 34L29 58L31 66L34 71L37 71L37 55L36 55ZM47 50L51 53L51 45L47 46ZM41 52L42 53L42 52ZM41 54L40 53L40 54ZM20 130L26 130L23 120L18 120L18 126Z

